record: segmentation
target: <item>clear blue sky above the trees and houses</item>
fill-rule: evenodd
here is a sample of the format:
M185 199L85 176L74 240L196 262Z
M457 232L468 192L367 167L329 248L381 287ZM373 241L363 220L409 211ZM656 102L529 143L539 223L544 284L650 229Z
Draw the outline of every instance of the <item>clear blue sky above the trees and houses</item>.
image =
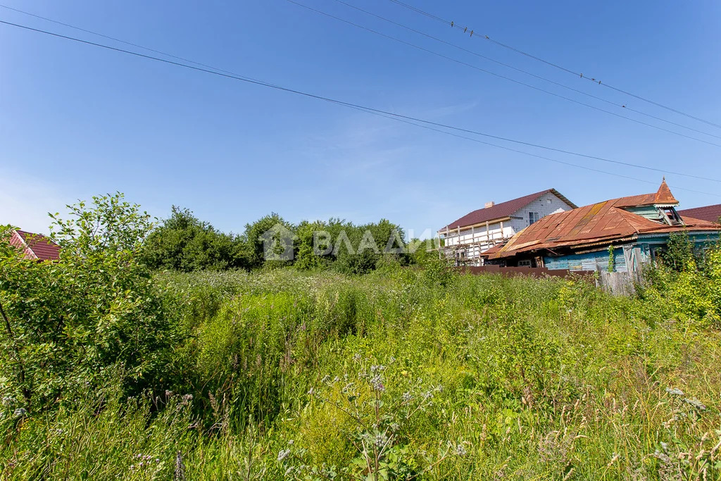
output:
M616 118L358 30L286 0L4 4L275 84L498 136L721 178L721 147ZM333 0L353 22L622 115L721 144L504 69ZM576 89L721 136L389 0L348 0ZM721 123L721 4L406 0L504 43ZM0 2L1 3L1 2ZM172 6L171 6L172 5ZM112 43L0 8L0 19ZM508 145L508 144L506 144ZM289 221L385 217L420 233L487 200L555 187L578 205L653 192L662 174L518 149L649 180L565 167L325 102L0 25L0 222L45 231L47 211L120 190L154 216L172 204L224 231L275 211ZM667 175L681 207L721 184Z

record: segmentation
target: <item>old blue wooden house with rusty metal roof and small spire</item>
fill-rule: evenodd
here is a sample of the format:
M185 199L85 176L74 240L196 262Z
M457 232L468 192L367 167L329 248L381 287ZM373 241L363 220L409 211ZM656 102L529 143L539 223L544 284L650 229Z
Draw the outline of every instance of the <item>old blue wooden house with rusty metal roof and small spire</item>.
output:
M721 227L681 216L665 180L651 194L604 200L554 213L483 253L487 262L549 269L637 272L665 249L673 232L684 231L704 248ZM612 259L612 260L611 260Z

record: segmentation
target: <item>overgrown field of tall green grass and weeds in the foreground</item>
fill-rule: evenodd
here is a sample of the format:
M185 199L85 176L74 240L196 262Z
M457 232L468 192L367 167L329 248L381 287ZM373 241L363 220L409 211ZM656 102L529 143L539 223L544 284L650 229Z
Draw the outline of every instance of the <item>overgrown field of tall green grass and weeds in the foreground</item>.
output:
M663 293L392 266L152 286L162 376L4 397L3 479L720 479L721 336Z

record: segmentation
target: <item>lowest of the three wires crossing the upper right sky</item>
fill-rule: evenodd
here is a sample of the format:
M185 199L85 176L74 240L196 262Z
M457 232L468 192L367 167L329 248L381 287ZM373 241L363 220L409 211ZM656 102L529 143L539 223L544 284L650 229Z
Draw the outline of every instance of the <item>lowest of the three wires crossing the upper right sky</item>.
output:
M494 71L490 71L490 70L487 70L487 69L483 69L482 67L479 67L479 66L477 66L477 65L473 65L472 63L468 63L468 62L459 60L459 59L457 59L457 58L453 58L453 57L447 56L447 55L445 55L445 54L443 54L443 53L435 52L434 50L430 50L430 49L428 49L428 48L421 47L420 45L415 45L415 43L407 42L406 40L402 40L402 39L400 39L400 38L393 37L392 35L386 35L385 33L379 32L378 30L373 30L372 28L364 27L363 25L359 25L359 24L357 24L357 23L355 23L355 22L351 22L350 20L347 20L347 19L344 19L344 18L341 18L341 17L337 17L337 16L335 16L335 15L333 15L333 14L329 14L329 13L327 13L327 12L323 12L322 10L316 9L316 8L314 8L314 7L312 7L312 6L308 6L308 5L306 5L306 4L301 4L300 2L298 2L298 1L296 1L296 0L286 0L286 1L288 1L288 2L291 3L291 4L295 4L295 5L297 5L297 6L301 6L301 7L304 8L304 9L308 9L308 10L311 11L311 12L315 12L315 13L317 13L317 14L324 15L325 17L329 17L329 18L332 18L332 19L336 19L336 20L338 20L338 21L340 21L340 22L344 22L344 23L346 23L346 24L348 24L348 25L353 25L353 27L360 28L361 30L366 30L367 32L371 32L371 33L373 33L373 34L375 34L375 35L380 35L381 37L386 37L386 38L388 38L389 40L394 40L395 42L402 43L402 44L404 44L404 45L408 45L408 46L410 46L410 47L412 47L412 48L416 48L416 49L418 49L418 50L423 50L424 52L430 53L431 55L435 55L435 56L438 56L438 57L441 57L441 58L445 58L445 59L448 60L448 61L451 61L451 62L454 62L454 63L459 63L460 65L464 65L464 66L466 66L466 67L470 67L471 69L475 69L475 70L478 70L478 71L482 71L482 72L484 72L485 74L490 74L490 75L496 76L496 77L498 77L498 78L500 78L500 79L505 79L505 80L508 80L508 81L512 81L514 84L523 85L523 87L528 87L529 89L534 89L534 90L537 90L537 91L539 91L539 92L543 92L544 94L552 95L553 97L558 97L558 98L560 98L560 99L567 100L567 101L569 101L569 102L573 102L573 103L578 104L578 105L583 105L584 107L588 107L588 108L591 108L591 109L593 109L593 110L598 110L599 112L605 112L605 113L607 113L607 114L609 114L609 115L614 115L614 117L624 118L624 119L626 119L626 120L630 120L630 121L632 121L632 122L639 123L639 124L641 124L641 125L646 125L647 127L651 127L651 128L658 129L659 131L668 132L668 133L673 133L673 135L681 136L681 137L684 137L684 138L689 138L689 139L694 140L694 141L702 142L703 144L708 144L708 145L712 145L712 146L715 146L715 147L721 147L721 144L716 144L715 142L707 141L707 140L704 140L704 139L698 138L698 137L688 136L688 135L686 135L685 133L676 132L676 131L671 131L671 130L669 130L668 128L663 128L663 127L659 127L658 125L653 125L653 123L647 123L647 122L644 122L644 121L642 121L642 120L638 120L638 119L635 119L635 118L632 118L632 117L627 117L626 115L621 115L621 114L616 113L616 112L611 112L611 110L606 110L606 109L603 109L603 108L601 108L601 107L596 107L596 105L590 105L590 104L587 104L587 103L585 103L585 102L581 102L580 100L572 99L571 97L565 97L565 95L557 94L556 92L551 92L550 90L541 89L541 87L536 87L535 85L526 84L526 82L513 79L512 77L505 76L505 75L503 75L503 74L497 74L497 73L494 72Z

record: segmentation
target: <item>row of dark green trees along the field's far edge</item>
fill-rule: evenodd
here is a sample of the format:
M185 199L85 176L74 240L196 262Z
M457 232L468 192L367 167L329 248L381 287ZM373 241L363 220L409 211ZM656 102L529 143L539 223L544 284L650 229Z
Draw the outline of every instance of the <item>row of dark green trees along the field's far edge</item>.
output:
M291 239L281 239L286 231ZM268 258L266 250L282 252L281 241L292 242L292 255ZM436 242L437 243L437 242ZM172 207L143 242L141 258L154 270L254 270L293 266L300 270L334 269L363 274L392 263L423 263L432 241L407 241L403 229L386 219L353 224L342 219L290 222L270 213L246 224L242 234L226 234L201 221L187 208Z

